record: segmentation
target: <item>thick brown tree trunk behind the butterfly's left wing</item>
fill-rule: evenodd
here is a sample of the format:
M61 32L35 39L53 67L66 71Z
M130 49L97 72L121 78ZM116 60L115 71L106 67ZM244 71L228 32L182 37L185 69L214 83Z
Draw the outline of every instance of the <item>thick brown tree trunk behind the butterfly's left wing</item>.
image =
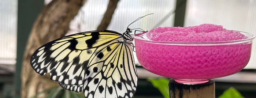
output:
M63 37L69 30L69 24L86 0L53 0L44 7L27 41L22 62L21 97L29 98L36 93L57 85L49 79L49 74L40 76L30 65L30 57L40 46L53 39ZM40 96L44 97L44 96Z

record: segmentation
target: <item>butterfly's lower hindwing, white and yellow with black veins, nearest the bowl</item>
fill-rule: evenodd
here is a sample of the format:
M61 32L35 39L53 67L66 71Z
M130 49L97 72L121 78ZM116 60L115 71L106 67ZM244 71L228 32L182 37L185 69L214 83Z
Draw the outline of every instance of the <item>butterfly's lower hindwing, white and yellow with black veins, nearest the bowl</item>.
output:
M133 97L137 72L129 43L120 38L102 46L100 52L91 58L85 77L86 98Z

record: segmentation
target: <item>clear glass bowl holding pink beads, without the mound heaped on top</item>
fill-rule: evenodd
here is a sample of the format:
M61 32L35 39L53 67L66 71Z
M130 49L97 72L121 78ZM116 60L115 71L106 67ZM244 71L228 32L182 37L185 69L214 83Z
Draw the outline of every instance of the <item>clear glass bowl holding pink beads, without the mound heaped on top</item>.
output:
M239 31L240 32L240 31ZM255 35L219 42L149 41L145 32L133 35L139 63L149 72L178 83L201 84L232 75L248 63Z

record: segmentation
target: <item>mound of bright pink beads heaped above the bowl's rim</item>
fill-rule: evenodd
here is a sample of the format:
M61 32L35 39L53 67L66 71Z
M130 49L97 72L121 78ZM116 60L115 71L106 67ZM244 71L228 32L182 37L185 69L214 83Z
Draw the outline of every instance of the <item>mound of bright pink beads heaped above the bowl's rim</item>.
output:
M243 34L223 29L215 24L201 24L192 27L158 27L147 33L152 41L172 42L216 42L246 39Z

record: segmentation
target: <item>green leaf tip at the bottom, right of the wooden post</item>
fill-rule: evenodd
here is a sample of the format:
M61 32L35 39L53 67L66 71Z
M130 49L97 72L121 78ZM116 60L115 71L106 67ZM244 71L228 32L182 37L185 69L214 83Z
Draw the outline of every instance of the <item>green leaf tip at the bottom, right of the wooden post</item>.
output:
M244 98L234 87L225 90L219 98Z

